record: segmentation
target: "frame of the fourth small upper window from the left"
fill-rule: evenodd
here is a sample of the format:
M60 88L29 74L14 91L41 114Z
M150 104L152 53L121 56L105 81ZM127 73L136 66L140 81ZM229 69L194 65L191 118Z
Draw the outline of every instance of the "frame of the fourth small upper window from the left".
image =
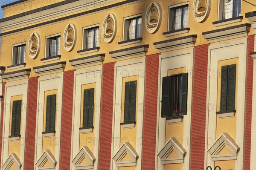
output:
M135 35L135 38L134 39L130 39L129 36L128 36L128 20L133 20L133 19L137 19L137 18L141 18L141 34L139 37L136 37ZM137 15L133 15L133 16L129 16L129 17L124 17L123 18L123 37L122 37L122 40L123 41L131 41L131 40L135 40L137 38L141 38L142 37L142 23L143 23L143 18L142 18L142 14L137 14ZM136 30L137 30L137 25L136 25L136 28L135 28L135 33L136 33Z

